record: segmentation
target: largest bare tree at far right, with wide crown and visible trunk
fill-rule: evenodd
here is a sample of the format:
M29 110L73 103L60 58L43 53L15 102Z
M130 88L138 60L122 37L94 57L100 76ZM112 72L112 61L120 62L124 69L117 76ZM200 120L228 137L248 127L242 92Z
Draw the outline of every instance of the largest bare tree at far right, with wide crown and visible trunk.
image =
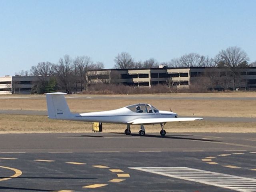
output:
M237 83L240 82L239 68L248 66L248 56L244 50L239 47L229 47L221 50L215 57L219 65L227 67L230 70L230 76L233 81L233 90L235 90Z

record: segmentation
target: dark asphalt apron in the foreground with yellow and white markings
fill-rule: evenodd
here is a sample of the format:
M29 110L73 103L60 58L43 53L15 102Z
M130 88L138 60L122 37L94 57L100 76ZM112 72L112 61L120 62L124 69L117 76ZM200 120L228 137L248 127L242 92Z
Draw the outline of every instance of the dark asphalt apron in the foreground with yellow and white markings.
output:
M256 134L1 134L0 191L256 191Z

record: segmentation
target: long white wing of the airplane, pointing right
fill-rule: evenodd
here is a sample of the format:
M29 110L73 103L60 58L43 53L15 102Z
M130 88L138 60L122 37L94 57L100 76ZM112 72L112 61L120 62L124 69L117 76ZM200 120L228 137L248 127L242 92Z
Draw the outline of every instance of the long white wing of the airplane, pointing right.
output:
M194 121L194 120L202 120L203 118L149 118L149 119L135 119L128 123L131 124L160 124L166 122L176 122L176 121Z

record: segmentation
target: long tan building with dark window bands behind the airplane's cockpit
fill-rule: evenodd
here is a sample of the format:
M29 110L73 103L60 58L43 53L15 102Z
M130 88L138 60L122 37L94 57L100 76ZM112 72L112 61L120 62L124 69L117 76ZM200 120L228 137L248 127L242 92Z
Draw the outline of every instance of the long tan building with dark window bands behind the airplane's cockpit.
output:
M214 87L232 89L236 87L256 88L256 68L240 68L233 78L228 68L190 67L190 68L148 68L148 69L102 69L87 73L89 84L121 83L129 86L151 87L157 84L172 83L177 88L188 88L196 80L211 81ZM204 78L204 79L203 79ZM234 82L236 81L236 82Z

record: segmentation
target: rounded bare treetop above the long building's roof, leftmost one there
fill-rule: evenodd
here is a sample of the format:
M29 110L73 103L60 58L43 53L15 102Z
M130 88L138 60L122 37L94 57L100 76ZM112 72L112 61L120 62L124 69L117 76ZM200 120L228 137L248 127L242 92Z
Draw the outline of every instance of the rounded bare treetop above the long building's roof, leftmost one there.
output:
M118 54L114 59L115 68L119 69L128 69L128 68L134 68L134 59L130 54L127 52L122 52Z

